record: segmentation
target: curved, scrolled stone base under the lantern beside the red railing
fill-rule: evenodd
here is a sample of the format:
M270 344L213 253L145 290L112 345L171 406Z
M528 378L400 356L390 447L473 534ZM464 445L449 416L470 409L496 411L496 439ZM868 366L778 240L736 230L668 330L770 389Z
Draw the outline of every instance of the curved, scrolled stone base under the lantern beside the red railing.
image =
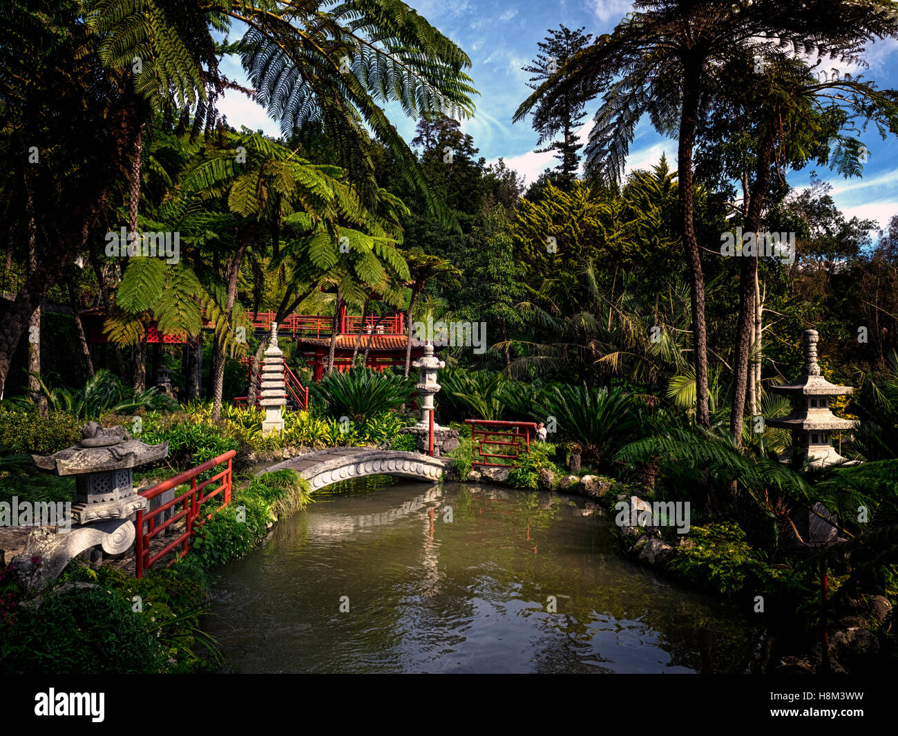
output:
M13 557L11 566L27 590L38 592L55 581L69 561L85 549L101 545L106 554L120 554L134 544L134 539L134 524L128 519L75 525L65 534L39 527L28 536L24 551Z

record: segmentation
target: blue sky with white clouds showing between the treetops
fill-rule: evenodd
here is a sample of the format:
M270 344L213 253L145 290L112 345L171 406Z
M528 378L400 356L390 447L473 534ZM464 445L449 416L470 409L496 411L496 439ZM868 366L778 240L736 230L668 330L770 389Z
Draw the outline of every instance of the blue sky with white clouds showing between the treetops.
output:
M409 0L407 0L409 2ZM534 154L537 135L529 120L512 123L517 106L528 93L530 75L521 71L535 57L537 43L548 29L564 23L568 28L585 26L585 32L598 35L610 32L621 17L629 12L629 0L560 0L540 2L525 0L520 4L508 4L489 0L475 3L457 0L453 4L439 0L410 0L418 13L433 23L446 36L458 43L471 57L469 74L474 87L480 92L475 98L477 111L472 120L462 122L462 129L474 138L480 155L488 161L503 157L506 164L533 181L547 166L555 164L551 154ZM236 31L236 29L234 29ZM876 80L882 88L898 83L898 41L887 40L867 49L869 69L867 78ZM825 67L831 67L826 64ZM245 82L238 63L225 59L226 75ZM852 67L841 67L852 74ZM595 104L587 107L585 129L591 126ZM219 105L234 126L246 125L251 129L263 129L278 135L277 122L270 120L266 112L242 95L228 93ZM413 136L415 121L406 118L398 105L387 108L401 134L407 140ZM898 214L898 141L889 137L883 141L871 128L863 137L870 155L862 178L842 179L838 173L826 167L817 167L821 179L832 184L832 198L847 217L870 217L880 226L886 226L890 217ZM661 137L651 128L647 119L642 120L636 137L630 146L627 166L629 170L647 168L655 164L665 152L675 164L676 141ZM811 168L792 173L788 182L796 188L807 185Z

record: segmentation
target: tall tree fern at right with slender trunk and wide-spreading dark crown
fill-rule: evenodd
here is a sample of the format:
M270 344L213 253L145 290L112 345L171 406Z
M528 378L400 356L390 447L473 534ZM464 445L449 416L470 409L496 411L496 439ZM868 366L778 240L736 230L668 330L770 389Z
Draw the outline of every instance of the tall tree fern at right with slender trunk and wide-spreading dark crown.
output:
M603 182L620 180L639 119L648 114L659 132L677 136L679 220L691 279L695 348L696 418L710 422L705 289L693 222L693 148L710 80L728 58L770 55L780 39L798 38L802 50L821 57L847 56L852 42L871 27L898 19L885 4L852 0L637 0L636 13L578 52L515 112L550 106L570 91L607 90L585 147L586 172ZM887 19L887 20L886 20ZM766 38L765 38L766 37ZM776 41L774 40L776 39ZM796 49L797 50L797 49ZM550 122L550 121L549 121ZM555 131L550 131L555 132Z

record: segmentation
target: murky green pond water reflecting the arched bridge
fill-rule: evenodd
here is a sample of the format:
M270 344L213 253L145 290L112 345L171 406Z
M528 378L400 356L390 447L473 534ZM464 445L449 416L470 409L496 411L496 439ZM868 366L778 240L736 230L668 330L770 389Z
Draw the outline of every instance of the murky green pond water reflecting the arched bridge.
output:
M383 476L328 491L217 571L225 669L744 672L761 646L732 606L630 562L583 499Z

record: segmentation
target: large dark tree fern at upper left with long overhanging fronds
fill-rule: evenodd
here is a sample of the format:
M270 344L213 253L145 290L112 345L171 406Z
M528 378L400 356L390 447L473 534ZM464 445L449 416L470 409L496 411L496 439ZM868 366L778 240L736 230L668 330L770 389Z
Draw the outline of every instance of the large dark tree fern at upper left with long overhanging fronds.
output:
M392 151L428 211L457 228L379 103L400 102L409 115L452 107L470 116L474 90L463 70L471 60L401 0L349 0L328 10L315 0L16 0L10 16L3 67L19 73L0 76L0 114L24 101L27 114L14 125L23 139L22 132L31 135L41 121L40 95L52 99L61 87L66 94L59 95L60 117L70 114L65 105L75 97L77 107L95 119L96 130L88 129L80 141L71 131L63 138L79 155L91 156L97 171L66 200L68 219L74 220L66 227L66 241L74 240L74 247L54 249L57 256L26 281L12 315L0 326L0 385L34 307L84 248L113 182L119 181L119 169L134 161L146 120L141 106L159 111L172 102L185 109L195 103L194 133L215 127L216 97L236 87L218 70L220 53L240 55L258 99L286 133L329 137L365 203L376 198L367 128ZM225 33L233 21L247 31L236 43L216 46L213 31ZM136 59L140 72L135 70L128 93L121 93L110 79L133 68ZM55 85L47 84L50 78ZM111 108L109 114L102 113L104 106ZM70 121L66 127L73 128ZM98 133L110 141L98 145ZM36 211L48 212L45 204L36 201ZM19 201L14 211L22 209Z

